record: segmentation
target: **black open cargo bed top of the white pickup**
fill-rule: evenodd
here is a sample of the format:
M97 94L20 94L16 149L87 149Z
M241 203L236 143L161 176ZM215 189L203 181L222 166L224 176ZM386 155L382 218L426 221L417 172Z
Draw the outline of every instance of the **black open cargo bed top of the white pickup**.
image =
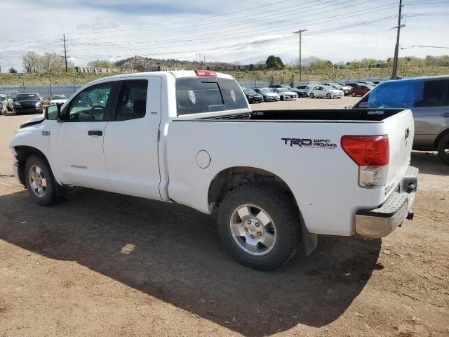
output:
M383 121L403 109L263 110L195 120L215 121Z

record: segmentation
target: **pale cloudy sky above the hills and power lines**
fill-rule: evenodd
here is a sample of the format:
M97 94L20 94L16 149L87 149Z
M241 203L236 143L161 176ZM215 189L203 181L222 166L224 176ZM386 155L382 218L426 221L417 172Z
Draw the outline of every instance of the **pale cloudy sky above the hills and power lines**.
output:
M75 65L134 55L255 63L316 56L333 62L394 54L398 0L2 0L0 67L55 52ZM400 56L449 54L449 0L403 0ZM439 46L429 48L413 46Z

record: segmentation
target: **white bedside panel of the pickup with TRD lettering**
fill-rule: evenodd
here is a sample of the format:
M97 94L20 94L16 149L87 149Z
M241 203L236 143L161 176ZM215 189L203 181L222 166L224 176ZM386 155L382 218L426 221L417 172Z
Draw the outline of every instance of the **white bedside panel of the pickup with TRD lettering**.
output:
M292 190L309 232L354 234L354 214L383 203L384 188L358 187L358 166L342 150L344 135L381 135L384 123L300 121L180 121L168 126L168 194L180 204L210 213L208 189L221 171L250 166L283 179ZM290 146L281 138L329 140L335 148ZM196 154L206 150L201 169Z

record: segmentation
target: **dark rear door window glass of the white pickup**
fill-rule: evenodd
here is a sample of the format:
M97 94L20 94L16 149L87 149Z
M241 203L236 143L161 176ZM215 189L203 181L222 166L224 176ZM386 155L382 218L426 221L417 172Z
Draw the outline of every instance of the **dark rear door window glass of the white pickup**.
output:
M148 81L123 81L116 109L116 121L145 117L147 112Z

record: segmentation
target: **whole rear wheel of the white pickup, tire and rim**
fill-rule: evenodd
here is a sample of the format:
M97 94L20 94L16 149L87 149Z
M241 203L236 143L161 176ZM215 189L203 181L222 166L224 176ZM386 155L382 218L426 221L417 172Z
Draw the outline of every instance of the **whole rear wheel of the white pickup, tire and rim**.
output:
M243 185L220 204L218 230L239 263L270 270L295 254L300 218L288 196L272 187Z

